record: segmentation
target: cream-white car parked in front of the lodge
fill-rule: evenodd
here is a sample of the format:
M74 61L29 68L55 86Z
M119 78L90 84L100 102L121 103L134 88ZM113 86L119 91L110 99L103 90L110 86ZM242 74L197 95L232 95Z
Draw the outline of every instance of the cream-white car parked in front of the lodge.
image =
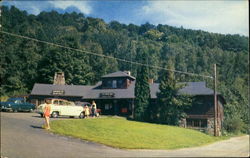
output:
M46 99L47 100L47 99ZM79 116L79 118L84 118L84 109L82 106L76 106L75 103L69 102L64 99L56 99L51 98L51 117L58 116L70 116L75 117ZM43 111L46 104L41 104L37 107L37 113L43 117Z

